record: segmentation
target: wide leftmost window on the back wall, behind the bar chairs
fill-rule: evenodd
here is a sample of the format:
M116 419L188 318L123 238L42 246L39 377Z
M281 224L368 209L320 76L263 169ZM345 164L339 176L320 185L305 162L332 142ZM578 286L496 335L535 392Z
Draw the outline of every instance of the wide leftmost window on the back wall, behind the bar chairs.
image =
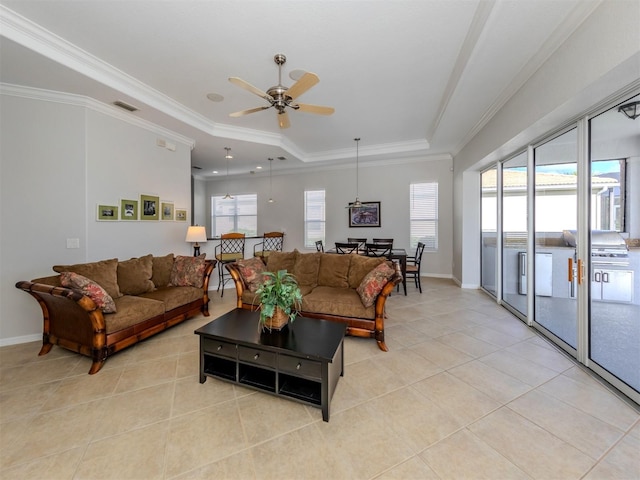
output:
M244 233L247 237L258 234L258 195L234 195L224 199L211 197L211 236L223 233Z

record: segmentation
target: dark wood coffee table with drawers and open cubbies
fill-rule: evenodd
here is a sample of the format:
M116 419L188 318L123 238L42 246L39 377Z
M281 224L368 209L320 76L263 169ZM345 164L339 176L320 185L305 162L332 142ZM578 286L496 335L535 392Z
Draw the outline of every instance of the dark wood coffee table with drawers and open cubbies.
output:
M344 374L346 325L298 316L262 332L260 313L237 308L197 329L200 383L214 377L322 408Z

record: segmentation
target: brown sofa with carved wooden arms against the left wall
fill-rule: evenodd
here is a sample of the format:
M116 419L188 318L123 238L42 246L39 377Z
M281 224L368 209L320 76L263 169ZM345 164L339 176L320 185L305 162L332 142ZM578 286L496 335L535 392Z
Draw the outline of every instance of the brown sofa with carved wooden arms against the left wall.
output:
M119 350L201 312L208 316L209 276L215 264L204 255L146 255L122 262L114 258L58 265L53 269L60 275L21 281L16 288L33 296L42 308L39 355L48 353L53 345L73 350L92 358L89 374L94 374ZM71 275L76 275L74 280L82 279L81 290L73 288L77 284L72 288L61 285L68 284ZM96 296L96 290L103 296ZM113 309L113 313L103 311Z

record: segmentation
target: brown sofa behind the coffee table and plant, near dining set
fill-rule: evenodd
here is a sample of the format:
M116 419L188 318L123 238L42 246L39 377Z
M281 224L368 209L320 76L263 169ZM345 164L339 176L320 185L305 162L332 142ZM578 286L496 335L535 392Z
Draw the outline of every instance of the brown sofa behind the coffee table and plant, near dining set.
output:
M369 272L381 263L392 267L393 275L373 300L365 306L357 288ZM238 262L225 265L235 282L238 308L255 310L255 285L243 278ZM287 270L295 275L302 291L300 314L309 318L322 318L345 323L347 334L375 338L383 351L385 302L394 287L402 281L400 269L384 258L332 253L271 252L266 270ZM246 276L245 276L246 277Z

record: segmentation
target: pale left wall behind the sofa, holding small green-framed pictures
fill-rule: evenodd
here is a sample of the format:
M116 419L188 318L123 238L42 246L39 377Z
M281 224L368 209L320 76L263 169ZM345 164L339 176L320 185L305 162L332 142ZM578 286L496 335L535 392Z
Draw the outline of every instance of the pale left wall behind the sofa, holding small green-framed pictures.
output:
M0 345L41 338L40 307L19 280L52 275L55 264L191 253L188 222L96 221L97 203L140 193L190 211L190 145L82 97L22 93L0 95ZM68 238L80 248L67 249Z

